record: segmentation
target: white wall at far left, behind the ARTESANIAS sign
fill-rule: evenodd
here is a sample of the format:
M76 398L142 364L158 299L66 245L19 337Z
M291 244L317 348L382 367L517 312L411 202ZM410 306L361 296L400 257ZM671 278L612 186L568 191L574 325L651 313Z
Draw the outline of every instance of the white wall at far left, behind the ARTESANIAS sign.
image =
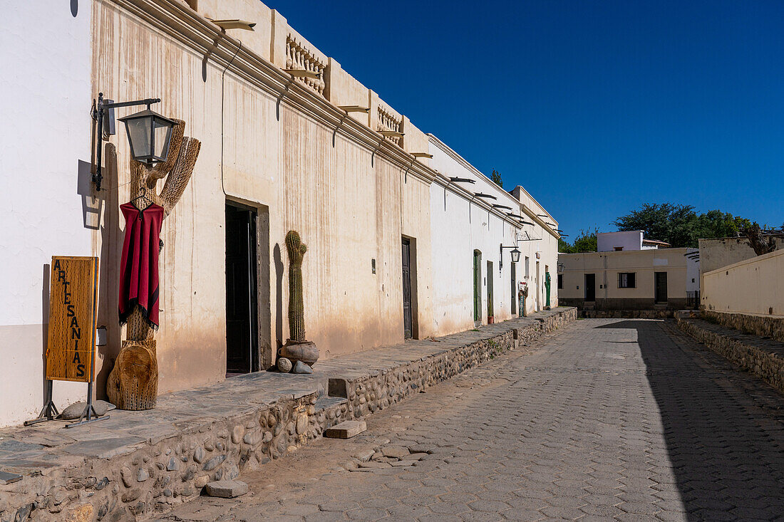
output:
M85 223L97 220L81 195L89 194L90 14L85 1L3 9L0 360L13 375L0 379L0 425L42 408L52 256L93 255ZM54 384L59 406L85 394L82 383Z

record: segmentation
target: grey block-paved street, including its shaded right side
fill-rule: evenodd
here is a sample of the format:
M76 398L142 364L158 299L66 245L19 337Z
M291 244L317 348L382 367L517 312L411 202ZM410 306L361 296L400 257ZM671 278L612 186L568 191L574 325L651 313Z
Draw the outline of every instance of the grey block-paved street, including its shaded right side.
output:
M668 321L575 321L164 520L784 520L784 397Z

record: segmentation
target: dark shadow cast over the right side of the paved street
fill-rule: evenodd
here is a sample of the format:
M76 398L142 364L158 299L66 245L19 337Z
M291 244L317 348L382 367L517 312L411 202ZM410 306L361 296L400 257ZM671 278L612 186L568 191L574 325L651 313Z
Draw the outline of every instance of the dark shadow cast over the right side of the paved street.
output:
M778 408L784 397L713 352L701 350L695 358L670 323L618 321L596 328L637 330L688 520L781 517L784 430Z

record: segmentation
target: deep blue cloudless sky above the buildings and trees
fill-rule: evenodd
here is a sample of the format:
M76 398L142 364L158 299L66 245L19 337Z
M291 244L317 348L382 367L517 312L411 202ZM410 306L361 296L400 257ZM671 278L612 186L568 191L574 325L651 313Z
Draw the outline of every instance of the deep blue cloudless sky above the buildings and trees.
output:
M784 222L784 2L267 5L570 240L664 201Z

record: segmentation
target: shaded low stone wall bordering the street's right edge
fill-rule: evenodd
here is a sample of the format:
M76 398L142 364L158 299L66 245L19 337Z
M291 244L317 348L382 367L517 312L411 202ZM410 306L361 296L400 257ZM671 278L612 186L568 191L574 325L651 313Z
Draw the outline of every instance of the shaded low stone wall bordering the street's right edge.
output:
M784 393L784 345L770 339L727 330L709 321L677 317L678 328Z

